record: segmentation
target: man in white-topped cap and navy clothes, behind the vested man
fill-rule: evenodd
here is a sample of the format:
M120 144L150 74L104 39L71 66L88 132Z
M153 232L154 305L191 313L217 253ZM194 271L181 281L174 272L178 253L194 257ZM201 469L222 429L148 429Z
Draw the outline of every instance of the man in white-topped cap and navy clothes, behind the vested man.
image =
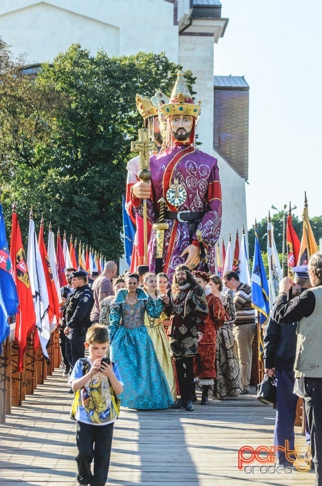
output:
M295 293L310 289L311 283L307 265L294 267L293 272ZM296 356L297 322L290 326L280 326L270 315L264 335L264 365L267 375L276 376L276 421L274 430L274 446L285 447L289 441L289 449L294 450L294 422L298 396L293 393L295 375L294 361ZM306 427L306 442L310 444L310 433ZM276 456L280 465L290 466L283 449L278 449Z

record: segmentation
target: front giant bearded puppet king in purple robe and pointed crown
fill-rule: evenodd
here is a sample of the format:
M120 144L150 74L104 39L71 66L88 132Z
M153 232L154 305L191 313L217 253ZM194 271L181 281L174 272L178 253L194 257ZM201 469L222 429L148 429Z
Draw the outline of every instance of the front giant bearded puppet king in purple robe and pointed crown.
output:
M166 150L150 158L151 183L137 182L131 187L131 203L142 215L147 199L151 223L159 218L160 198L166 200L163 271L172 281L175 268L185 263L190 269L206 269L202 260L208 253L208 265L215 271L215 244L221 227L221 187L217 159L194 147L194 132L200 113L194 104L182 73L170 102L159 105L168 124ZM197 237L199 230L201 238ZM201 241L200 241L201 239ZM148 259L155 269L156 232L151 231Z

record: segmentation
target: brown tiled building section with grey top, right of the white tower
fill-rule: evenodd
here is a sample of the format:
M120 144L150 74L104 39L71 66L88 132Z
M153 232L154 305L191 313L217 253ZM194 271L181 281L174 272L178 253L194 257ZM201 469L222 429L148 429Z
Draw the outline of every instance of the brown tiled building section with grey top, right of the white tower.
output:
M248 180L249 85L243 76L214 76L214 148Z

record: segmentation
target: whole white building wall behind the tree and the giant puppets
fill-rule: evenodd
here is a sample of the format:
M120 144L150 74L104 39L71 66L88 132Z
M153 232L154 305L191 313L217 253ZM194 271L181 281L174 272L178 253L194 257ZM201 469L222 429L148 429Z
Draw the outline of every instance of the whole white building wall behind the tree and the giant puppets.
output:
M188 15L188 2L180 0L179 7ZM16 56L27 53L28 64L51 61L72 43L80 43L92 54L103 48L111 56L165 52L171 61L191 69L197 77L195 99L203 98L198 140L201 150L213 153L214 35L207 35L202 25L203 35L179 36L173 13L174 5L164 0L2 0L0 34ZM215 156L222 184L222 235L226 242L229 232L234 240L236 228L239 233L243 223L247 228L245 181L222 157Z

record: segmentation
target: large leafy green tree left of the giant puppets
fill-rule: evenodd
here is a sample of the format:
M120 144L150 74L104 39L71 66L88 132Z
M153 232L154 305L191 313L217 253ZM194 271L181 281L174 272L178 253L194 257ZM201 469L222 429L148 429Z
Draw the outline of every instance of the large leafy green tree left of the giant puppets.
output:
M0 183L17 200L25 226L32 205L35 217L44 213L53 228L60 225L107 258L122 255L126 164L133 156L131 140L142 127L135 95L151 97L157 89L170 93L178 69L164 54L110 58L104 51L91 56L72 45L36 77L20 76L44 107L35 104L27 113L29 132L18 144L0 113L6 132ZM185 76L191 88L192 73ZM16 105L20 110L18 100ZM32 126L35 119L38 131ZM20 127L20 119L17 123ZM4 204L7 213L10 203Z

